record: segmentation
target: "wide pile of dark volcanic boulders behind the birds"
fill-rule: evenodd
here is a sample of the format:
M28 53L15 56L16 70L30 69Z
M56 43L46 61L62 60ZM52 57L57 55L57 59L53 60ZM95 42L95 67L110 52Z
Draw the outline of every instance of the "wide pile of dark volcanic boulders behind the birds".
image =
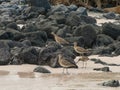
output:
M51 6L47 0L27 2L3 0L0 4L0 65L29 63L59 67L59 53L71 61L77 55L74 42L91 48L91 54L120 54L119 25L97 26L96 19L88 16L84 7ZM61 47L51 32L70 44Z

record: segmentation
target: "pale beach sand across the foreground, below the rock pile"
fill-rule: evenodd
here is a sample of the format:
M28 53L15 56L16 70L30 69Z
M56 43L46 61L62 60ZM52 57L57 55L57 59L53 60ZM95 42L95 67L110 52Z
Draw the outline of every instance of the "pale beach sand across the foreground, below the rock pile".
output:
M89 58L100 58L107 63L120 64L120 56ZM78 69L69 69L69 75L62 74L62 68L48 66L43 67L50 70L51 74L34 73L33 69L37 65L0 66L0 90L120 90L120 87L98 85L111 79L120 80L120 66L110 66L112 72L109 73L93 71L93 68L104 67L101 64L94 64L93 61L88 61L86 69L81 68L82 62L79 62L78 66Z

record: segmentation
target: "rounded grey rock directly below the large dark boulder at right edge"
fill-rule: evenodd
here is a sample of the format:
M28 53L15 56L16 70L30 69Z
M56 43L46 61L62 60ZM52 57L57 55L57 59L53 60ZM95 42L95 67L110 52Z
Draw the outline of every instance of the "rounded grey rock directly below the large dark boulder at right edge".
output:
M112 44L114 42L114 40L107 36L107 35L104 35L104 34L99 34L97 35L97 38L96 38L96 46L107 46L109 44Z

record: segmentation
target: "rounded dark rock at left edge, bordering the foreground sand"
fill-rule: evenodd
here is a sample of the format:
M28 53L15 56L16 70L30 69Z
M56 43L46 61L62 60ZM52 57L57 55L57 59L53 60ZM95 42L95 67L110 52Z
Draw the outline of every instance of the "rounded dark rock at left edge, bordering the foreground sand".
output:
M0 65L7 65L10 61L11 54L8 49L0 48Z

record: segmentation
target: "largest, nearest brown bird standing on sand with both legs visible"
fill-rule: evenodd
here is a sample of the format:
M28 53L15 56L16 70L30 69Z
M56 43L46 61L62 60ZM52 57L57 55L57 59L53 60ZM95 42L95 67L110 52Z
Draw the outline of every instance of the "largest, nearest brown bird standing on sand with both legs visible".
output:
M60 66L63 67L63 74L64 74L64 69L66 69L66 73L68 73L68 68L78 68L78 66L74 62L68 61L68 58L63 56L62 54L58 55L58 63Z

